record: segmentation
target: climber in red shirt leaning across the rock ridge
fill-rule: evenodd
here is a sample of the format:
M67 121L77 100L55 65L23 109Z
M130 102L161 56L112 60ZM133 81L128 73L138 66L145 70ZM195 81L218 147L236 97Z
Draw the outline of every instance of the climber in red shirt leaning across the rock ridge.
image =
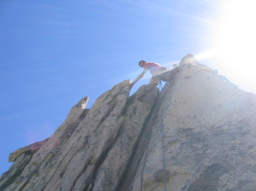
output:
M139 76L132 82L130 83L130 87L132 87L137 81L139 81L143 75L150 70L151 71L151 81L150 81L150 85L149 85L149 91L151 91L151 89L155 86L157 86L157 84L160 82L160 80L162 81L171 81L171 79L173 78L174 74L178 72L178 68L176 65L174 65L174 69L170 70L167 69L157 63L154 62L147 62L145 60L141 60L139 62L139 66L144 68L144 71L139 74Z

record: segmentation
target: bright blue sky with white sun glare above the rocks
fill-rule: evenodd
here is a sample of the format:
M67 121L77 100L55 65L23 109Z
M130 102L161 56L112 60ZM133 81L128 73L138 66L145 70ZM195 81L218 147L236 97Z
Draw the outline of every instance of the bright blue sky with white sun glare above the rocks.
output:
M57 130L141 59L168 68L187 53L256 94L253 0L1 0L0 175L10 153ZM147 84L147 74L133 88Z

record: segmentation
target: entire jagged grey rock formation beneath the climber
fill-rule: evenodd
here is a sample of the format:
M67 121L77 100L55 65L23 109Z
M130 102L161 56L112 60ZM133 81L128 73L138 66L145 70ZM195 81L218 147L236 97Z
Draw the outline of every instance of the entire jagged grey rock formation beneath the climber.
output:
M129 80L12 153L0 190L253 191L256 96L184 57L159 91Z

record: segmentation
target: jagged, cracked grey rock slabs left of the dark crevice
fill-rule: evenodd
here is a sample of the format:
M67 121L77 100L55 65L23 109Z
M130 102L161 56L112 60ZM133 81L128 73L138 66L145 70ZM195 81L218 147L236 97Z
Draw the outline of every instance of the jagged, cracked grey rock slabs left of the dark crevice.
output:
M75 105L55 134L35 153L14 153L3 190L114 190L122 180L158 89L129 97L126 80L100 96L90 110ZM27 149L28 150L28 149ZM20 159L29 158L20 164ZM18 171L18 173L17 173ZM12 178L12 179L10 179Z

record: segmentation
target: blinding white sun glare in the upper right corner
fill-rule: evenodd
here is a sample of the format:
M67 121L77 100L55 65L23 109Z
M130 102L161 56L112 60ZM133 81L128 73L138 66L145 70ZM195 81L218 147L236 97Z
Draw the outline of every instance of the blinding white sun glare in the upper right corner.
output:
M245 91L256 94L256 1L222 0L212 30L213 49L199 56L213 58L216 68Z

